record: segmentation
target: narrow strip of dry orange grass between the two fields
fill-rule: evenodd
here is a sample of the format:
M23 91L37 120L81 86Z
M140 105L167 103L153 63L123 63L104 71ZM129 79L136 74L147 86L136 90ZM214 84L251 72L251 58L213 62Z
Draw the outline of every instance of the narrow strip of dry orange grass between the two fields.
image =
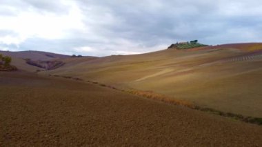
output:
M59 76L59 75L50 75L50 76L63 77L63 78L66 78L66 79L74 79L74 80L81 80L81 81L83 81L83 79L80 79L78 77L68 77L68 76ZM145 98L148 98L148 99L154 99L154 100L157 100L157 101L163 101L163 102L168 103L168 104L175 104L175 105L185 106L185 107L188 107L188 108L192 108L194 110L201 110L201 111L205 111L205 112L211 112L214 115L220 115L220 116L223 116L223 117L230 117L232 119L236 119L236 120L239 120L239 121L244 121L244 122L247 122L247 123L250 123L250 124L262 125L262 118L260 118L260 117L245 117L243 115L233 114L231 112L222 112L222 111L219 111L219 110L214 110L212 108L201 108L199 106L194 106L189 101L183 101L183 100L180 100L180 99L174 99L172 97L168 97L166 95L161 95L161 94L158 94L158 93L155 93L155 92L152 92L152 91L143 91L143 90L135 90L135 89L123 90L123 89L115 88L114 86L101 84L101 83L99 83L97 81L87 81L87 82L91 83L91 84L97 84L99 86L111 88L111 89L114 89L114 90L119 90L119 91L122 91L122 92L128 92L128 93L130 93L132 95L137 95L137 96L145 97Z

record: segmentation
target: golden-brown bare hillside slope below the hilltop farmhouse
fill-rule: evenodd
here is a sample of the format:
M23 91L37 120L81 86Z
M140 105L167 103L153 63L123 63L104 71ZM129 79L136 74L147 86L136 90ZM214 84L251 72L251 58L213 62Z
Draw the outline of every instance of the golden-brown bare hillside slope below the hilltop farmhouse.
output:
M245 116L262 117L262 43L239 43L79 61L43 74L150 90Z

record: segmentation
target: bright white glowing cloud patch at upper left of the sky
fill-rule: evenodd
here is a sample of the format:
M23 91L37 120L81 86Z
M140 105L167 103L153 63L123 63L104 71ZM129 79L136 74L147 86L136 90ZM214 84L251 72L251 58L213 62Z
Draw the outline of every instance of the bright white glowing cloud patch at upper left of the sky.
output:
M70 6L68 14L37 12L32 7L15 16L0 14L0 30L11 30L17 34L12 37L0 37L0 42L18 45L30 37L63 39L68 37L68 30L84 30L83 14L77 4L72 1L67 1L66 4Z

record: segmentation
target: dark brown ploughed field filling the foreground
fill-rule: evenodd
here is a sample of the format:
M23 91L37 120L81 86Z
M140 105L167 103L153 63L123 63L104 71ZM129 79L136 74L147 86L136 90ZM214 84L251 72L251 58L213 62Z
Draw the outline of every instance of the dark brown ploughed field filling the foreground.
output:
M262 146L262 127L59 78L0 72L0 146Z

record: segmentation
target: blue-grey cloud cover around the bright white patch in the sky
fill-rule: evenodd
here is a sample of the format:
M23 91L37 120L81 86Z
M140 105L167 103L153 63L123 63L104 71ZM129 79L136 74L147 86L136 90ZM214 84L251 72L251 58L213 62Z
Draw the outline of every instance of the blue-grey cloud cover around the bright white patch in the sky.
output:
M70 36L60 40L27 39L20 45L21 50L38 48L77 54L81 52L74 48L87 46L93 50L83 54L103 56L118 51L149 52L163 44L191 39L208 44L262 39L262 3L258 0L76 2L88 31L70 30ZM17 5L25 3L43 12L68 11L63 1L25 0Z

